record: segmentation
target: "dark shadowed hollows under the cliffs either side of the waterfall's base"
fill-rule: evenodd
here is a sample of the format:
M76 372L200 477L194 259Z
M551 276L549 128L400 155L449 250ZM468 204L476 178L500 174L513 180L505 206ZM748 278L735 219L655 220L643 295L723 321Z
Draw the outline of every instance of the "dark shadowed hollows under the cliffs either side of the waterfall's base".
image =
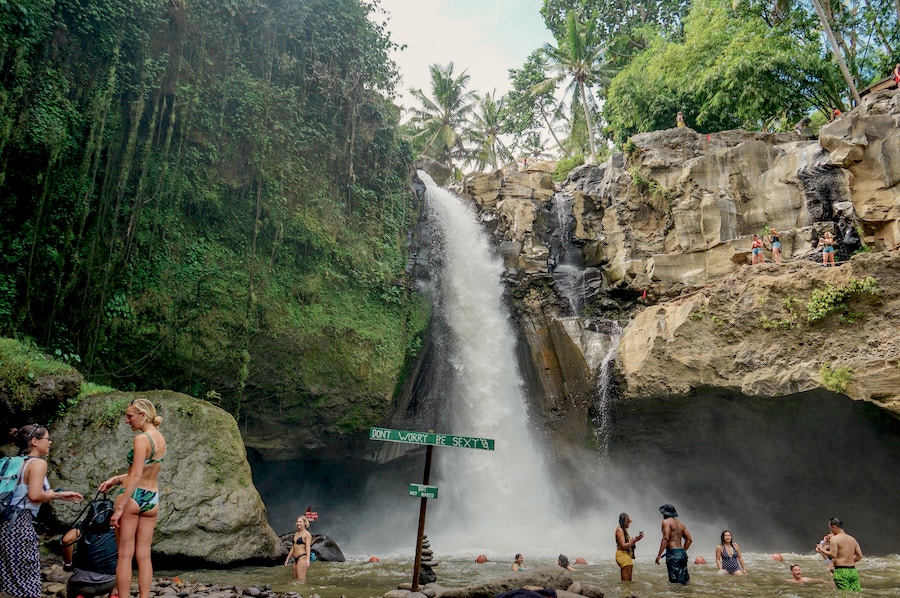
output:
M864 554L897 552L900 422L872 404L825 391L774 398L708 391L617 400L611 417L607 474L568 488L579 498L561 506L561 520L567 511L592 507L642 513L641 529L655 544L658 516L651 520L648 513L670 502L700 549L714 545L727 527L748 552L805 553L837 516ZM402 494L421 481L422 449L383 465L363 455L266 461L249 452L254 483L278 533L291 530L312 505L322 513L317 533L366 551L375 547L358 544L361 531L379 532L366 513L402 510L402 517L415 519L418 502ZM379 550L389 540L410 540L392 538L396 529L379 533Z

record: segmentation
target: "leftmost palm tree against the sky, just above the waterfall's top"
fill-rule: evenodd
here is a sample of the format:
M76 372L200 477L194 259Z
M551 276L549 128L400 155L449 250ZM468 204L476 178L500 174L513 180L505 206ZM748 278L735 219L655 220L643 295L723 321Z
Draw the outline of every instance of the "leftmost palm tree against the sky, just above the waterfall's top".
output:
M473 92L466 92L469 75L463 71L453 76L453 63L447 66L432 64L431 97L421 89L410 93L421 102L421 108L413 108L411 124L416 133L414 140L424 141L423 155L433 157L453 168L453 157L464 156L463 131L466 117L474 106Z

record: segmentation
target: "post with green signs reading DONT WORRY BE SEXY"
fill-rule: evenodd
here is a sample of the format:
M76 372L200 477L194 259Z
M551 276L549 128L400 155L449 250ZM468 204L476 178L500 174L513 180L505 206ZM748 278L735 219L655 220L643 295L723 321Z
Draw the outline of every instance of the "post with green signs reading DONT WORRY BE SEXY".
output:
M485 451L494 450L494 440L491 438L477 438L473 436L451 436L449 434L435 434L429 432L409 432L406 430L391 430L389 428L369 428L369 440L381 440L384 442L403 442L406 444L424 444L425 449L425 473L422 475L421 484L410 484L409 495L421 497L419 504L419 531L416 536L416 559L413 565L412 591L419 591L419 567L422 565L422 542L425 537L425 509L429 498L437 498L437 486L429 486L431 477L431 458L436 446L454 446L457 448L472 448Z

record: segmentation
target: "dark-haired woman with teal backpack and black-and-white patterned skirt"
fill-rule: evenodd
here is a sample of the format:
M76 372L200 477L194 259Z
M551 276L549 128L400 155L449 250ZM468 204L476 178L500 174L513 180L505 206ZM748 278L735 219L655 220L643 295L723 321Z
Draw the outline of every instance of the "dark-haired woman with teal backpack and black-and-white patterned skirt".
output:
M9 501L8 518L0 523L0 592L15 598L39 598L43 589L34 518L45 502L78 502L83 497L69 490L50 489L47 462L41 458L50 454L50 432L46 427L30 424L13 429L10 434L24 462Z

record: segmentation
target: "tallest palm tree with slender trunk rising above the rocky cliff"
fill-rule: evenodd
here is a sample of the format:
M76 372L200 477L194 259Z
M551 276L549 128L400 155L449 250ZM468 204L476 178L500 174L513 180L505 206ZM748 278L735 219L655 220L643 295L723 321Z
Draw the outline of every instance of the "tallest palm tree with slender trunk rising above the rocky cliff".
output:
M575 13L569 11L566 14L566 29L562 42L558 47L545 44L544 54L547 56L547 70L552 75L534 87L535 93L555 88L561 81L568 81L563 100L571 97L571 109L577 110L580 104L584 110L591 161L596 163L597 150L594 147L591 107L596 106L597 102L591 87L608 84L609 77L606 72L604 48L594 43L594 22L582 26L578 23ZM572 116L571 121L574 123L577 119L574 118L574 114Z

